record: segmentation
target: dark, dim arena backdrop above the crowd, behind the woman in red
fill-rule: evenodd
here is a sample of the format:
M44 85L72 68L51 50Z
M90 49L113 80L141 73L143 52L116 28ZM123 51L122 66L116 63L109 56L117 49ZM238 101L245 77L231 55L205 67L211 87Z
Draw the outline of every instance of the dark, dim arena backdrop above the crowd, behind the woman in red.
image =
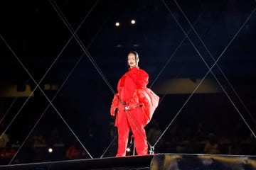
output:
M19 149L16 162L65 159L66 147L78 140L92 157L106 149L105 155L113 156L110 105L130 50L139 53L139 67L149 73L148 86L161 98L153 118L164 142L156 152L178 152L174 148L182 141L194 139L198 123L220 142L234 136L255 142L255 6L252 0L3 1L0 118ZM117 21L119 27L114 26ZM78 26L76 39L71 38ZM183 31L190 31L191 41ZM206 66L212 67L214 60L215 77ZM185 84L174 86L182 79ZM202 79L218 90L188 90L188 82ZM169 132L176 127L176 133ZM62 151L35 159L28 152L33 132L46 137L47 148L55 128L63 139ZM223 154L228 154L226 148Z

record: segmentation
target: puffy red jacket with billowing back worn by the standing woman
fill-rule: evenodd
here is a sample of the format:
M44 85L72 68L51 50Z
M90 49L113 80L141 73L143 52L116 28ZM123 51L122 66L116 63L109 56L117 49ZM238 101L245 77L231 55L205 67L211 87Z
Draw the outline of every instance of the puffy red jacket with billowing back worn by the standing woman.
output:
M152 115L158 106L159 96L156 96L151 89L146 85L149 83L149 75L139 67L129 69L117 84L118 93L114 95L112 100L112 106L110 108L111 115L114 114L114 110L117 110L117 117L115 125L118 126L120 116L124 114L124 106L129 106L129 110L133 110L136 107L142 106L141 118L144 120L144 125L149 123Z

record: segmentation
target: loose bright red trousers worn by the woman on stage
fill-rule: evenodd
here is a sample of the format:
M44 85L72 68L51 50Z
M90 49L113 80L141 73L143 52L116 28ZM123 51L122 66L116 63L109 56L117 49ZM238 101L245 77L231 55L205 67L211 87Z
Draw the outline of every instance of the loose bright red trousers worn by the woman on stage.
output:
M127 111L122 113L122 118L118 125L118 150L116 157L124 157L126 155L130 129L132 129L137 154L148 154L146 132L143 126L142 108L139 107L135 108L133 111L128 111L128 113Z

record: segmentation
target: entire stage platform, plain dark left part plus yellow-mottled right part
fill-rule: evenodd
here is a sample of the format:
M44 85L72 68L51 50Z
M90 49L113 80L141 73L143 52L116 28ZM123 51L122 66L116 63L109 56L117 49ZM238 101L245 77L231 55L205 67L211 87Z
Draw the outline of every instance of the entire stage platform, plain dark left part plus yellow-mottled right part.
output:
M256 157L212 154L150 154L146 156L79 159L36 164L0 166L4 170L86 170L86 169L152 169L152 170L255 170Z

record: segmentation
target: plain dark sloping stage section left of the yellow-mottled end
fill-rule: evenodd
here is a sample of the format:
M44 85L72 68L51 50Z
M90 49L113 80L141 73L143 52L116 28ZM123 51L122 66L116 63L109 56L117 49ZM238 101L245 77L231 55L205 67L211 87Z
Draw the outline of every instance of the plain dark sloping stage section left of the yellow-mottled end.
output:
M3 170L86 170L86 169L150 169L154 155L75 159L36 164L0 166Z

